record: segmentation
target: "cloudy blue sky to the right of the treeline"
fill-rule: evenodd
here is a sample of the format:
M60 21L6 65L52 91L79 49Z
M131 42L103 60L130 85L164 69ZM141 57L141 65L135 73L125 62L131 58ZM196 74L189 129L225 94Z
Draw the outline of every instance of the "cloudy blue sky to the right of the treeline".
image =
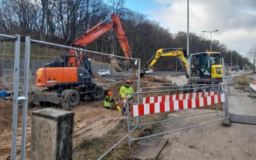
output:
M126 7L172 34L186 32L187 0L126 0ZM213 40L245 56L256 45L256 0L190 0L190 33L210 39L202 30L218 30Z

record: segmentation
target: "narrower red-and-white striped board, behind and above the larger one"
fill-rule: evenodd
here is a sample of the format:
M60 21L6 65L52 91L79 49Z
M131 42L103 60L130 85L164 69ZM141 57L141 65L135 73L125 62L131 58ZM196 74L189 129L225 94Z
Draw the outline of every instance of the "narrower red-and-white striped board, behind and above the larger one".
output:
M191 98L202 98L207 96L212 96L215 94L222 93L222 90L215 90L209 92L198 92L198 93L188 93L188 94L170 94L163 96L147 97L142 99L142 103L154 103L154 102L168 102L182 99L191 99Z

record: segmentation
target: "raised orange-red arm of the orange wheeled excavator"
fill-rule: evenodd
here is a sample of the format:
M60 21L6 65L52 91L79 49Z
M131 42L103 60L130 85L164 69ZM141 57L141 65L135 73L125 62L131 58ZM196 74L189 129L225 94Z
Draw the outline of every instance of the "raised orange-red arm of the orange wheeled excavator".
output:
M122 50L126 56L126 58L131 58L130 54L130 46L126 38L126 34L124 30L122 30L122 25L120 22L120 18L116 14L110 14L111 21L106 22L106 19L104 22L99 22L96 26L91 28L90 30L87 30L82 37L77 38L70 44L70 46L80 46L84 47L90 42L93 42L96 38L102 36L102 34L105 34L108 30L113 29L114 32L117 35L118 42L120 46L122 47ZM76 53L75 50L69 51L69 66L80 66L80 62L82 62L82 55L79 55Z

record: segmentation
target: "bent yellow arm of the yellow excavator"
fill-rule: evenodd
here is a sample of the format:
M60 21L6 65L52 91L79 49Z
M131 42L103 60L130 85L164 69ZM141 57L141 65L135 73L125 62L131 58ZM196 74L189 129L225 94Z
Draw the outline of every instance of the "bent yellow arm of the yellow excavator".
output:
M158 62L161 57L170 56L177 56L184 70L186 70L186 72L190 70L188 62L186 61L186 51L183 52L182 48L166 48L157 50L156 54L154 54L154 56L150 58L150 61L146 62L146 64L142 66L140 76L143 77L146 70L150 70L150 68L152 68L152 66L154 66L154 64Z

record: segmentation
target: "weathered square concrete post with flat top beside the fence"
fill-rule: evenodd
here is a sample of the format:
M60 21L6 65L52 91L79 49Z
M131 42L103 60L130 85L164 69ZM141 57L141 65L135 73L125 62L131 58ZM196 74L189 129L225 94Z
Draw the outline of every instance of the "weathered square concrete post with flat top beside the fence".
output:
M32 112L31 159L72 159L74 113L46 108Z

